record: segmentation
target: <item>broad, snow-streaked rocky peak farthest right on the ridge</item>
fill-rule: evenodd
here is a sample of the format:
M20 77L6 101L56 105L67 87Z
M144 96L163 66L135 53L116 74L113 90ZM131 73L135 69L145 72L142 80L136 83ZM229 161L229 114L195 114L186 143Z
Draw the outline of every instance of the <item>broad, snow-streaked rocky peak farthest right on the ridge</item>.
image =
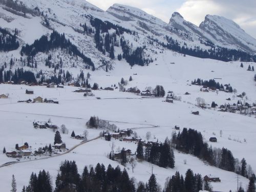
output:
M256 39L225 17L206 15L199 28L209 33L216 41L223 43L224 46L233 45L251 53L256 51Z

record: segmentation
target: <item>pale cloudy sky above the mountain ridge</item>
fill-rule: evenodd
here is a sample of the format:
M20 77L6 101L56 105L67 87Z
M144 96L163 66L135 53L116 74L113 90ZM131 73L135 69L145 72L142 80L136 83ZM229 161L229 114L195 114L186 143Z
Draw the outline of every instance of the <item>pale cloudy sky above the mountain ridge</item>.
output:
M197 26L207 14L224 16L232 19L246 33L256 38L255 0L88 0L88 2L103 10L115 3L137 7L166 23L175 11Z

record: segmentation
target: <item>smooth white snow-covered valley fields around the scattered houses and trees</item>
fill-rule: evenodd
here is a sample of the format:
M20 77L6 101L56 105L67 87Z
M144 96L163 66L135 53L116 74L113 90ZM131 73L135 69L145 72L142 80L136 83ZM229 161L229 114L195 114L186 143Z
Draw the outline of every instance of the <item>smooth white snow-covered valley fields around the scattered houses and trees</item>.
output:
M170 62L175 62L175 64L170 64ZM199 109L195 106L197 97L204 98L208 104L211 104L211 101L224 104L227 103L226 98L232 98L232 94L224 92L219 92L218 95L216 92L204 93L200 92L198 86L189 86L190 81L195 78L204 80L222 78L217 81L223 84L230 83L233 88L238 90L238 94L245 91L248 97L246 102L256 102L254 73L246 71L249 64L254 64L244 63L244 68L240 68L240 62L225 63L210 59L183 57L169 51L160 54L155 63L148 67L134 66L131 68L126 63L120 62L120 65L116 65L115 70L109 73L94 72L90 81L97 82L100 87L104 88L118 84L121 77L129 79L132 75L134 80L129 82L127 88L137 86L143 90L145 87L154 88L156 84L160 84L166 92L174 91L176 95L182 96L182 101L175 101L172 104L163 102L164 98L141 98L141 96L118 90L94 91L95 97L83 97L83 93L73 92L77 90L75 87L65 86L64 89L49 89L40 86L0 84L0 94L9 94L8 99L0 99L2 133L0 135L0 148L5 146L7 151L11 151L16 143L22 145L24 142L28 142L32 148L36 149L46 144L53 144L54 132L52 130L33 128L33 121L47 121L49 118L58 126L61 124L67 126L69 134L61 133L61 137L67 148L71 148L80 142L80 140L70 138L71 132L74 130L75 134L82 134L86 129L86 122L91 116L96 115L101 119L111 121L120 129L137 128L135 131L143 140L145 140L145 133L150 131L152 139L155 136L159 141L163 141L172 135L175 125L200 131L205 141L208 141L209 137L214 136L215 133L218 142L210 143L212 147L227 147L234 157L240 160L244 157L256 172L254 155L256 119L253 116ZM137 75L133 75L135 73ZM26 89L33 89L34 94L26 95ZM184 95L185 92L189 92L191 95ZM59 104L17 102L18 100L33 99L37 96L57 98ZM96 97L101 99L96 99ZM237 98L229 102L236 103ZM200 115L192 115L191 111L199 111ZM222 137L220 137L220 130L223 132ZM97 137L102 130L88 131L89 139L92 139ZM134 143L112 141L115 142L115 150L122 147L131 149L132 153L136 150L137 145ZM108 164L116 166L118 165L117 161L111 161L106 157L111 151L110 144L111 142L104 139L97 139L80 145L72 153L63 156L1 167L1 183L5 189L9 190L11 175L14 174L18 190L20 190L23 185L28 184L32 172L38 173L43 168L49 170L52 177L55 178L61 161L65 159L75 160L80 173L84 165L96 165L98 162L105 164L105 166ZM165 169L154 165L154 173L162 186L164 186L165 178L172 176L176 170L185 174L187 168L191 168L194 173L200 173L202 176L211 174L220 177L221 183L212 183L214 190L236 189L236 174L206 165L196 157L177 151L175 151L175 157L174 169ZM186 164L184 164L184 159L187 160ZM15 161L13 158L7 158L4 154L0 155L1 164L13 160ZM137 181L146 181L150 177L151 166L147 162L142 162L137 164L134 173L132 173L129 164L127 164L127 169L129 169L129 175L135 177ZM247 179L240 177L239 181L243 187L247 186Z

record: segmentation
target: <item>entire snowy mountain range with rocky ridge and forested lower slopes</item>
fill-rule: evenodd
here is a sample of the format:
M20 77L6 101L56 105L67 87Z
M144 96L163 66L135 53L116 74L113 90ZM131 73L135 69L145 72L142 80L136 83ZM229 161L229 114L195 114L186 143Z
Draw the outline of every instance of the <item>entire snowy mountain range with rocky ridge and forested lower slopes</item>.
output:
M33 70L29 65L24 65L24 59L26 60L26 57L31 55L20 55L20 50L26 44L33 44L42 35L50 37L53 30L61 34L65 33L66 39L70 39L81 53L92 60L96 70L105 70L106 66L110 70L114 69L120 62L117 56L123 55L125 50L126 55L131 56L131 58L135 54L139 55L141 57L140 65L143 66L149 65L150 62L156 62L159 57L158 53L165 49L184 55L224 61L252 61L253 57L243 51L250 54L254 54L256 51L254 38L246 34L231 20L218 16L207 15L205 21L200 27L197 27L185 21L179 13L175 12L167 24L161 19L134 7L114 4L108 10L103 11L83 0L0 1L0 13L1 27L12 34L16 29L15 33L19 41L18 49L0 53L3 62L0 63L0 66L4 62L10 63L11 57L17 60L14 62L12 70L18 67L28 67L29 70ZM102 31L102 24L98 22L95 24L95 18L100 19L101 22L108 22L108 27ZM91 29L90 33L84 31L85 25ZM98 42L95 40L96 25L101 25ZM120 34L119 31L123 32ZM116 39L115 44L113 41L110 43L114 46L114 59L109 57L109 50L105 51L105 35L107 33ZM120 44L123 40L126 42L125 47ZM221 48L215 49L215 46L234 50L226 54ZM138 50L140 50L140 54ZM219 52L217 53L216 50ZM240 52L236 52L236 50ZM51 61L53 65L51 66L56 66L60 62L59 56L61 55L61 62L65 63L62 67L77 68L74 70L75 75L81 69L86 69L84 59L73 60L74 58L61 50L56 52L56 49L53 49L50 51L53 57ZM42 69L46 74L52 73L54 69L45 66L48 55L48 52L38 52L33 55L37 61L38 69ZM138 64L137 61L131 62L131 58L123 59L130 65Z

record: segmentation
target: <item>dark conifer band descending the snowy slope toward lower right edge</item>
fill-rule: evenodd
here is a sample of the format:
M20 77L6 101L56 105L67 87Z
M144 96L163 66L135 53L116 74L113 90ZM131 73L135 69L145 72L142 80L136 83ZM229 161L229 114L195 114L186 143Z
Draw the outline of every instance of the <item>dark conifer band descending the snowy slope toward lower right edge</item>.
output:
M193 129L184 128L178 134L172 135L172 144L177 150L194 155L210 165L237 173L250 178L253 174L250 165L247 166L243 158L239 161L233 157L233 154L227 148L212 148L206 142L203 142L203 136L200 132Z

